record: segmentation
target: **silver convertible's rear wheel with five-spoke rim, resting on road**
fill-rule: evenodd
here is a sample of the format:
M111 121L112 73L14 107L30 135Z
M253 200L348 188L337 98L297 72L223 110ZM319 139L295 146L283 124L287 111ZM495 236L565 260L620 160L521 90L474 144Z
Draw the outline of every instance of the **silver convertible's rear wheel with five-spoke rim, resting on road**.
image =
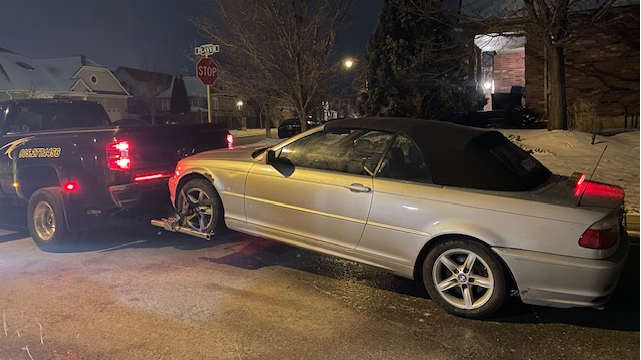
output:
M472 240L448 240L434 247L423 263L423 282L433 301L471 319L496 313L507 296L500 260Z

